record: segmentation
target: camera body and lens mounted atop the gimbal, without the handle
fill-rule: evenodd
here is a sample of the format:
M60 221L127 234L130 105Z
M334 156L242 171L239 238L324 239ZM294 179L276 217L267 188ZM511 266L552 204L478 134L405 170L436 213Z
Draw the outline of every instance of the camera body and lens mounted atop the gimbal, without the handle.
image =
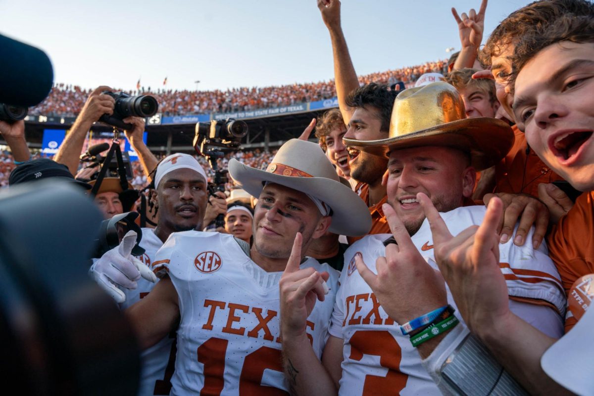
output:
M226 119L210 123L196 123L194 146L198 140L207 141L211 146L238 148L241 139L248 134L248 124L243 121Z

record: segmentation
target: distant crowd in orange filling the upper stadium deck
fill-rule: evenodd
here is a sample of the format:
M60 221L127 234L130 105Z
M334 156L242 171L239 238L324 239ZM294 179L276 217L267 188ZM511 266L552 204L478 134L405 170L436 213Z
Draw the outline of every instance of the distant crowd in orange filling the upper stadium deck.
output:
M378 82L391 85L402 81L409 86L424 73L445 71L447 71L447 61L438 60L426 62L423 65L359 76L359 83ZM77 116L91 91L76 85L56 84L48 98L30 109L29 113L44 116ZM226 91L151 90L151 87L146 89L141 87L140 90L130 91L128 94L154 95L159 101L160 113L165 116L181 116L255 110L324 100L336 96L336 87L334 80L330 80L280 87L233 88Z

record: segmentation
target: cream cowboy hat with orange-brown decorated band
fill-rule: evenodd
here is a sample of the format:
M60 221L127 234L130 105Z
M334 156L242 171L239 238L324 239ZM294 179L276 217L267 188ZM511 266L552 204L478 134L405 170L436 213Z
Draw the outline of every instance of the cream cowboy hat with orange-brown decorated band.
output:
M258 197L264 182L281 184L309 194L332 209L328 231L359 236L371 229L371 215L361 198L340 183L336 170L317 143L291 139L283 144L266 171L248 167L236 159L229 161L229 175L242 189Z

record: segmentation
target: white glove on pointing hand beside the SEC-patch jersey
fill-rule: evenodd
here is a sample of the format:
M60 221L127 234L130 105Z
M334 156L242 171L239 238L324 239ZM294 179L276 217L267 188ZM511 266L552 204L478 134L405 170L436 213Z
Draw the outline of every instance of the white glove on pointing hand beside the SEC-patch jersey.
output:
M117 286L134 290L140 277L153 283L157 280L149 267L130 254L136 243L136 235L136 232L128 231L122 242L103 254L89 270L95 282L119 304L126 301L126 295Z

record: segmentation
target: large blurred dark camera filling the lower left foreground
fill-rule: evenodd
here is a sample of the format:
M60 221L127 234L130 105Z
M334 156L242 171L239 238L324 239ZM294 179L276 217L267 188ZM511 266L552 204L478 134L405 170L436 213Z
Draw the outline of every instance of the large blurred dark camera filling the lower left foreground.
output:
M0 194L0 379L12 392L136 394L132 328L87 274L100 221L80 189L56 178Z

